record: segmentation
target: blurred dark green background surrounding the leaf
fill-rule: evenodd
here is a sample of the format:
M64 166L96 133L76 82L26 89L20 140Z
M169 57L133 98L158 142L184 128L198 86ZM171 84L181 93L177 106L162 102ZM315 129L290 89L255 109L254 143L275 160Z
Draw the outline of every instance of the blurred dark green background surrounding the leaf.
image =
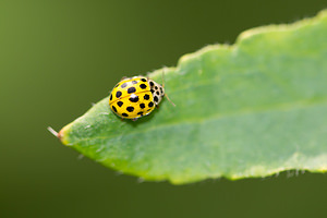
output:
M326 0L0 0L0 217L323 217L327 174L173 186L120 175L60 144L60 130L123 76Z

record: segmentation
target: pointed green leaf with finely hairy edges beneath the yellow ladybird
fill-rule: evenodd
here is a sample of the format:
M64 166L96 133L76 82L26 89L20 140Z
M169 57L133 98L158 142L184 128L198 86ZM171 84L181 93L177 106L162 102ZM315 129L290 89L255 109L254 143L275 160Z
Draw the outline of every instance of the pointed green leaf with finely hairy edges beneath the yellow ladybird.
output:
M160 82L162 71L148 76ZM177 107L164 99L133 122L105 98L61 130L62 143L174 184L327 170L327 11L246 31L233 46L205 47L165 71Z

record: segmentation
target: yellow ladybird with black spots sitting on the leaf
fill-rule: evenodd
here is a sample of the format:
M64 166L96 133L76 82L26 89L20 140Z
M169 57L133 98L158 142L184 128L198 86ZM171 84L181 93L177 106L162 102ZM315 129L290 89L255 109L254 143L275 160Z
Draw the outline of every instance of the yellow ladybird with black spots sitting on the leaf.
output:
M164 96L164 85L145 76L126 77L113 87L109 106L117 116L135 121L149 114Z

